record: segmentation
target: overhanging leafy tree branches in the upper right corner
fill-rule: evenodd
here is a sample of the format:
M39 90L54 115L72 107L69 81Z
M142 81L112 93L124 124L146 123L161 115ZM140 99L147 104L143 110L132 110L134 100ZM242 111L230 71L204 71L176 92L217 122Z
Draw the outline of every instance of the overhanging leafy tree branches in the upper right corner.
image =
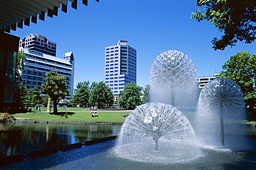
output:
M223 32L221 39L212 40L214 50L224 50L228 45L235 46L238 41L252 43L256 39L256 1L255 0L196 0L196 6L204 7L192 12L192 19L210 21Z

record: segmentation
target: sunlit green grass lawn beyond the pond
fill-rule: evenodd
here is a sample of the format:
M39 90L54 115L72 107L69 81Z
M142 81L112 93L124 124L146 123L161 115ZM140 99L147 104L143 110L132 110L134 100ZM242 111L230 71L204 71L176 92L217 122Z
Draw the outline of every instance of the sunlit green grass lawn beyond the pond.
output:
M33 111L33 108L32 108ZM122 123L125 117L122 114L129 114L131 111L98 111L98 117L92 118L89 108L68 107L66 111L73 112L68 118L64 115L54 115L48 112L28 112L25 114L14 114L15 118L28 118L32 120L55 120L55 121L84 121L84 122L115 122ZM41 108L41 111L46 111L46 108ZM53 110L52 110L53 111ZM58 111L63 111L62 107L58 107Z

